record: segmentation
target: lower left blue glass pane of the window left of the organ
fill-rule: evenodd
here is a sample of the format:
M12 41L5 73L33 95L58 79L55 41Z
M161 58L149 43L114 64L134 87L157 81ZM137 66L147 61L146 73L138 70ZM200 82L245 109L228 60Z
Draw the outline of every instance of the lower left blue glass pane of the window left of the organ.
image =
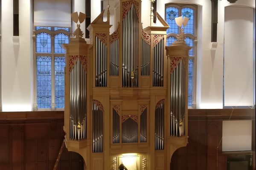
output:
M36 57L38 108L51 108L51 57Z

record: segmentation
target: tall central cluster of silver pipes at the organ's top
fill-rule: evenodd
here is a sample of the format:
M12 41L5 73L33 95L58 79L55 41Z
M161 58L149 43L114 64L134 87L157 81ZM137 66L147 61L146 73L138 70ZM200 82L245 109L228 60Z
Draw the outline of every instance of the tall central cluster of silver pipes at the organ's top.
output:
M138 86L138 19L134 5L123 19L122 86Z

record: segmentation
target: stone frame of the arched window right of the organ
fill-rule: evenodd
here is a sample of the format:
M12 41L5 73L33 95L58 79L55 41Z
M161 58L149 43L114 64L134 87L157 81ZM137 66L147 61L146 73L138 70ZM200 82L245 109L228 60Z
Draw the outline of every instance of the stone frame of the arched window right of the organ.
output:
M165 18L166 18L166 8L175 7L178 8L178 16L181 16L182 8L192 8L194 10L194 34L186 33L185 36L191 38L194 41L194 56L189 56L189 59L193 60L193 78L192 78L192 105L188 108L196 108L196 82L197 82L197 12L198 7L194 4L184 4L184 3L167 3L165 4ZM180 33L180 28L178 27L178 34ZM176 33L169 33L166 35L166 39L169 37L176 37Z

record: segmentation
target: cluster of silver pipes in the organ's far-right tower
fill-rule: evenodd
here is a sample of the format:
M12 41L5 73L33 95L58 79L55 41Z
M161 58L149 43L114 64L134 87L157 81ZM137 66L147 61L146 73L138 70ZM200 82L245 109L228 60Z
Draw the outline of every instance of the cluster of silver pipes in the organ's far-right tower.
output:
M171 136L185 135L186 73L181 59L171 74Z

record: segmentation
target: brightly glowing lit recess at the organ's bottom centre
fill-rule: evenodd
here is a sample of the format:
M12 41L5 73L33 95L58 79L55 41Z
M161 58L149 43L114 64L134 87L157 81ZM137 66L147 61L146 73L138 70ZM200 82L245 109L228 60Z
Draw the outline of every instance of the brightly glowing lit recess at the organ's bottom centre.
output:
M136 153L122 154L121 163L125 165L128 170L137 170L137 157Z

